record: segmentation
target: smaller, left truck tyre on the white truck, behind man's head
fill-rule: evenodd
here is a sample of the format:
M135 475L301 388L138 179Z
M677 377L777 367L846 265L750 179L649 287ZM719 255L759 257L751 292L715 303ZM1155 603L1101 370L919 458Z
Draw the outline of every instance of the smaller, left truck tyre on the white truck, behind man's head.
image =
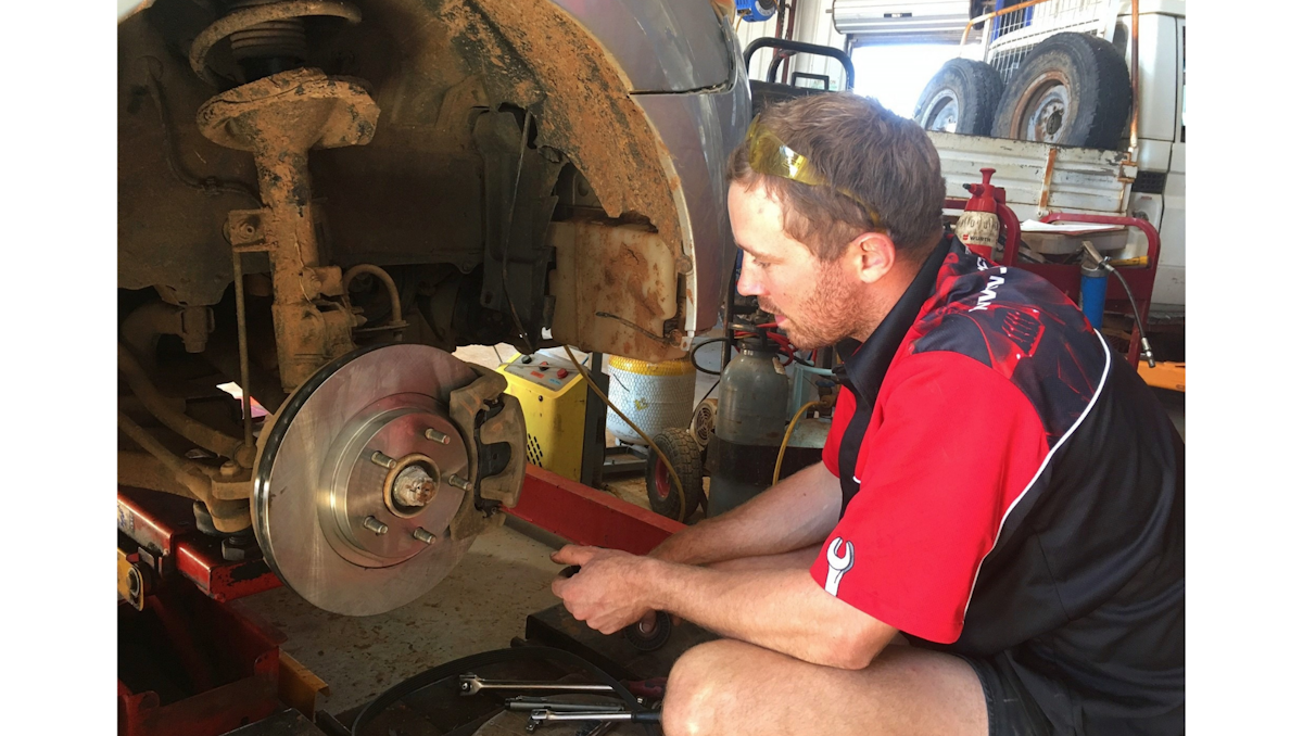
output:
M913 120L924 130L985 135L1003 89L999 72L990 64L951 59L923 89Z

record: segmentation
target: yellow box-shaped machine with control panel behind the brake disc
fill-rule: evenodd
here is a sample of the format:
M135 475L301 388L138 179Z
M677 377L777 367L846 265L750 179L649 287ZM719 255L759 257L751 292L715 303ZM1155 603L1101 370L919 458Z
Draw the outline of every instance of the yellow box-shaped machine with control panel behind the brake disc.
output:
M564 358L539 353L516 356L498 366L498 373L525 413L529 461L579 481L588 412L588 388L579 370Z

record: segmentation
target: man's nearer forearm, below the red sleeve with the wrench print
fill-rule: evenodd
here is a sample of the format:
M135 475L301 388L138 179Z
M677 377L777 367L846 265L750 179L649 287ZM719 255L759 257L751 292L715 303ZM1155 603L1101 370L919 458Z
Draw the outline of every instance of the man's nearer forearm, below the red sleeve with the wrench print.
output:
M838 601L804 569L722 572L645 560L658 608L805 662L866 667L895 629Z

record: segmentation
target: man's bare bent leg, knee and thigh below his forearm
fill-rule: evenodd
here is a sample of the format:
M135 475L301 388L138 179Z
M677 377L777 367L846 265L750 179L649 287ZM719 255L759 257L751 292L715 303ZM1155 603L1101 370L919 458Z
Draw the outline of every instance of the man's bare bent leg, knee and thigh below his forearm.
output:
M688 650L670 672L666 736L986 736L986 697L963 659L890 645L838 670L735 640Z

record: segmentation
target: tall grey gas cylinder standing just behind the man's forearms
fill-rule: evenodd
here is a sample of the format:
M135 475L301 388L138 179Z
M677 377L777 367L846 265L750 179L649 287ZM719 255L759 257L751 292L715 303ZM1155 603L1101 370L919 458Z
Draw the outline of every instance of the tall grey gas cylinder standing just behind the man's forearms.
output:
M787 373L764 335L743 339L719 376L719 412L706 449L706 516L741 505L769 487L787 429Z

